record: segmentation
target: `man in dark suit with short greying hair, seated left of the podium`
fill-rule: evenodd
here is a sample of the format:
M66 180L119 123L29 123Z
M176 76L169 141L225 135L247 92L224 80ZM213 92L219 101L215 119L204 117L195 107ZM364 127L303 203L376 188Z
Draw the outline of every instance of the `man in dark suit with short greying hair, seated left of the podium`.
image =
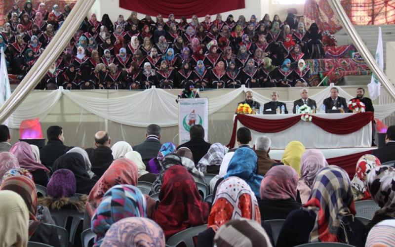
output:
M133 147L133 150L138 152L143 159L146 167L152 158L158 156L158 152L162 144L160 143L160 126L158 124L150 124L147 126L145 141Z

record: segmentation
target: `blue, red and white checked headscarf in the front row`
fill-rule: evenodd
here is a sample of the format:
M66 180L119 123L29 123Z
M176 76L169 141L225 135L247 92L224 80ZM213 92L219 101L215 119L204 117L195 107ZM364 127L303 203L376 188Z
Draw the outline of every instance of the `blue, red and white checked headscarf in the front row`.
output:
M91 229L96 234L94 247L102 245L112 224L128 217L147 217L147 201L137 187L116 185L104 194L92 217Z

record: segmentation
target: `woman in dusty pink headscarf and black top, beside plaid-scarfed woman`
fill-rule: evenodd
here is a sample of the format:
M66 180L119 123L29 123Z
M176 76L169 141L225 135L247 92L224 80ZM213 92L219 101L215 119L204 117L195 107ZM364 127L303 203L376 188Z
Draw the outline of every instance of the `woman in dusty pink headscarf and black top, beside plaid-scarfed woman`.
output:
M302 205L296 202L298 180L298 173L287 165L277 165L266 172L258 201L262 220L285 219L291 211L300 209Z

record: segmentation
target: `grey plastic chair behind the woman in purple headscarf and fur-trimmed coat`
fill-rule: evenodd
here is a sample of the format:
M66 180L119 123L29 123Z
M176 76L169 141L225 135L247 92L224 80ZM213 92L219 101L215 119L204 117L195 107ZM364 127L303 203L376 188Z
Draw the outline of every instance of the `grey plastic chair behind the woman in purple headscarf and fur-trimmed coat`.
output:
M57 226L63 227L69 232L69 241L74 243L74 238L76 236L77 228L79 223L83 221L83 213L77 210L49 210L51 212L52 218ZM67 224L71 221L71 224ZM67 227L70 225L70 229Z

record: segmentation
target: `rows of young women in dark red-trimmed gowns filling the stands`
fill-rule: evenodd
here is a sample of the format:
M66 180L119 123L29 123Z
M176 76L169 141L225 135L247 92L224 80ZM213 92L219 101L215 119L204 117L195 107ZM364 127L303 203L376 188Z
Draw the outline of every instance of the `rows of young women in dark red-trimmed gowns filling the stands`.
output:
M37 61L42 50L70 13L45 3L37 10L31 2L20 10L17 4L9 11L0 47L5 50L9 73L22 79ZM289 87L308 86L310 69L305 59L324 55L322 34L316 23L306 30L289 13L285 21L278 15L262 20L243 15L226 20L218 14L215 20L206 15L187 22L167 21L159 14L139 20L132 11L125 20L116 22L104 14L101 21L95 13L85 18L69 45L53 63L39 89L123 88L145 89Z

